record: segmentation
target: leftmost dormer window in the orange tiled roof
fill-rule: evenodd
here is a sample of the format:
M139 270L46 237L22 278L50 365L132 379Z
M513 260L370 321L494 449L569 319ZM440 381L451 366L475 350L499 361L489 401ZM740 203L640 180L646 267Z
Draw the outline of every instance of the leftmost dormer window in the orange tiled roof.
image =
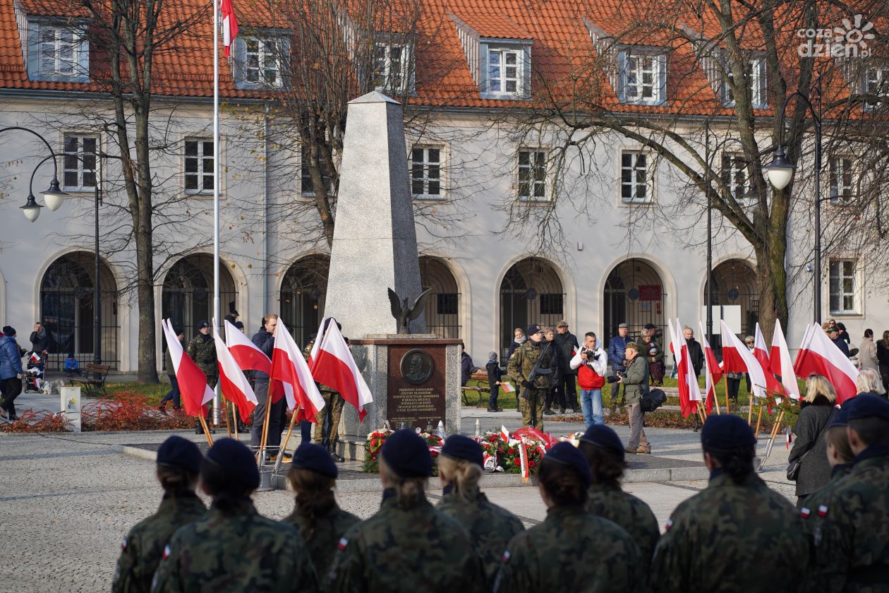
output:
M67 22L28 18L28 78L53 82L90 81L90 45L85 29Z

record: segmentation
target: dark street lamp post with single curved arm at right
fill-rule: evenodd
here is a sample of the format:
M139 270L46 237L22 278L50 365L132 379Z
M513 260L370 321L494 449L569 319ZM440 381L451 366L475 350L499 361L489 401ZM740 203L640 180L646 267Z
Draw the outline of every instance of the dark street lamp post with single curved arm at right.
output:
M815 252L814 252L814 310L813 319L815 324L821 324L821 76L816 81L815 92L818 93L817 109L813 106L802 92L798 90L792 92L790 96L784 100L781 107L781 120L778 126L778 148L775 149L772 162L765 165L765 174L768 176L769 182L775 189L779 191L786 188L791 179L793 172L797 168L796 164L789 161L787 154L784 152L784 116L787 106L794 97L801 100L805 108L812 114L815 124Z

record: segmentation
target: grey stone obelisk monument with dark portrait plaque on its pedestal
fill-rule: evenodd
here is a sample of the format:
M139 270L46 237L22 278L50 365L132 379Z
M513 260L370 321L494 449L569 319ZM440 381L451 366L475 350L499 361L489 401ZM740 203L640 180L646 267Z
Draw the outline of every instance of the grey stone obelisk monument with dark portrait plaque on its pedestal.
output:
M346 405L340 451L364 459L367 433L384 421L412 428L445 421L460 430L460 341L425 333L425 316L398 334L388 288L420 296L420 260L401 104L369 92L348 104L324 317L335 317L373 395L367 416Z

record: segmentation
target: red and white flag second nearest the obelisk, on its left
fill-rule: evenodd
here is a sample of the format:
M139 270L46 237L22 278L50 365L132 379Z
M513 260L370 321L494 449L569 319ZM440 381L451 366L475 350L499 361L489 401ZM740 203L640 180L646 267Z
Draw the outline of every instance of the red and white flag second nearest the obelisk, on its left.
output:
M272 372L269 373L269 392L272 394L272 403L281 399L276 385L284 388L284 396L287 397L287 408L292 410L300 405L297 420L315 422L315 416L324 407L324 399L308 370L306 359L302 357L300 349L284 322L278 320L275 332L275 349L272 350Z

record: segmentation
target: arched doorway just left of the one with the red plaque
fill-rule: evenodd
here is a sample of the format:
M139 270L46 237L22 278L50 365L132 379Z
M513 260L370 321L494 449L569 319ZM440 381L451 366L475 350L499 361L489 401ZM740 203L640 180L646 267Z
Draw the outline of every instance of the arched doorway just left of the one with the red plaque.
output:
M501 282L501 356L517 327L530 324L556 327L565 316L565 290L546 260L526 258L509 268Z

